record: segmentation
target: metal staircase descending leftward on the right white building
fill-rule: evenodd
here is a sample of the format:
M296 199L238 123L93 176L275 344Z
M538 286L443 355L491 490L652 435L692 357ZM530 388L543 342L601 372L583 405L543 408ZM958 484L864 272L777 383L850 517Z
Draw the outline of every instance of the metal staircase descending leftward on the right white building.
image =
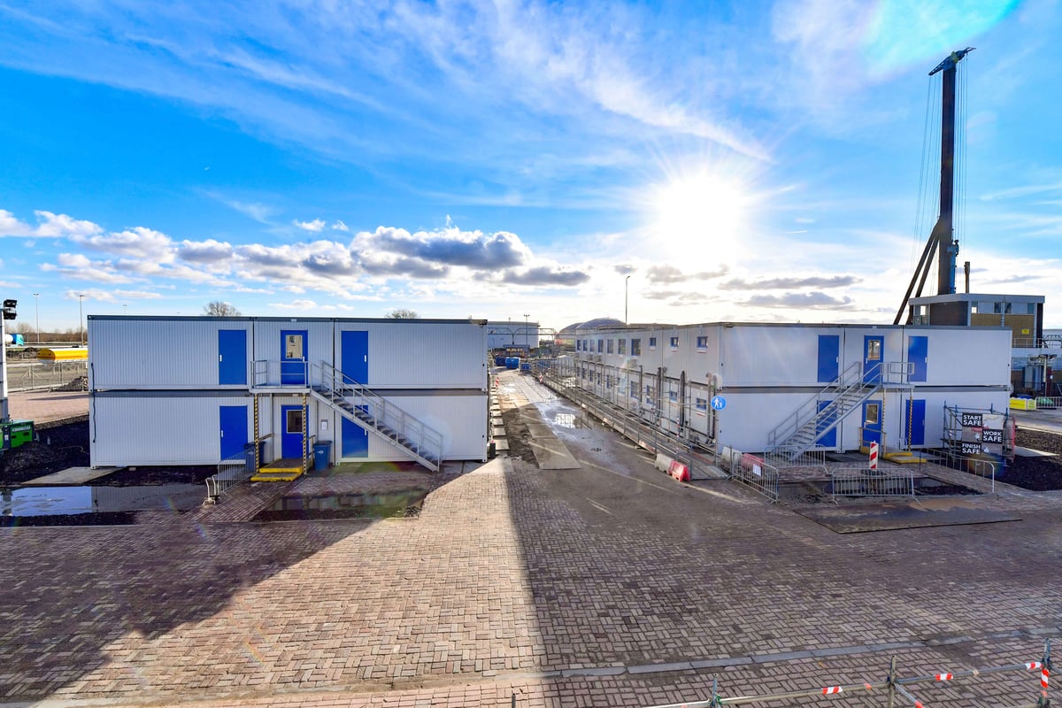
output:
M767 461L791 465L817 447L820 437L881 388L881 369L877 363L864 373L862 362L853 362L836 381L768 433Z

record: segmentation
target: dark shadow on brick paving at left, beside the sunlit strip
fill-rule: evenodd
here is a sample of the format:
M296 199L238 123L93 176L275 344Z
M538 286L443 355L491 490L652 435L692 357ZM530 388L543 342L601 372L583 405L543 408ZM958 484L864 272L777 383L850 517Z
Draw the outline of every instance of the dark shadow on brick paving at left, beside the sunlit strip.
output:
M154 640L185 626L200 644L224 638L237 628L205 621L237 593L369 525L205 525L155 514L126 526L0 529L0 698L137 695Z

